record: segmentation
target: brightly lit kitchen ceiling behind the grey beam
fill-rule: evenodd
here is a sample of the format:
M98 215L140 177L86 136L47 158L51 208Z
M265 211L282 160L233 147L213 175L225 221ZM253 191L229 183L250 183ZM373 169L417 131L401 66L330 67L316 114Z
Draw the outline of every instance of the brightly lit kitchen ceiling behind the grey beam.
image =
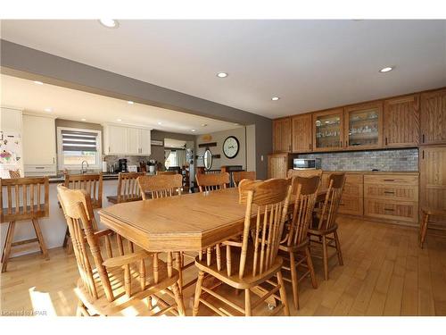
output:
M191 135L238 128L230 122L150 105L128 105L124 100L49 84L37 85L31 80L4 74L0 76L0 92L1 105L73 121L86 119L95 123L112 122ZM51 112L45 112L45 108L51 108ZM117 121L118 119L121 121ZM203 127L202 124L206 126Z

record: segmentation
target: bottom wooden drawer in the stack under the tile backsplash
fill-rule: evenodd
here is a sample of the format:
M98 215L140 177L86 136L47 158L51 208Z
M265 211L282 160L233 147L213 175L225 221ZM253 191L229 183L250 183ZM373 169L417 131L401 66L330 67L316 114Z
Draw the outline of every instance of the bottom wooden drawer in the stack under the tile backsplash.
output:
M417 222L418 203L364 199L364 215L388 220Z

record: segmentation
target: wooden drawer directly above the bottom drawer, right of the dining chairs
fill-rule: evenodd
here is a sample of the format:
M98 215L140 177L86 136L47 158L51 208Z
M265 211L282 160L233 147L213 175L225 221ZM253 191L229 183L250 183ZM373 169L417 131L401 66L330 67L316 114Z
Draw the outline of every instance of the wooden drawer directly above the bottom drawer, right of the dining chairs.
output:
M418 201L417 186L400 186L400 185L364 185L364 197L374 197L378 199Z

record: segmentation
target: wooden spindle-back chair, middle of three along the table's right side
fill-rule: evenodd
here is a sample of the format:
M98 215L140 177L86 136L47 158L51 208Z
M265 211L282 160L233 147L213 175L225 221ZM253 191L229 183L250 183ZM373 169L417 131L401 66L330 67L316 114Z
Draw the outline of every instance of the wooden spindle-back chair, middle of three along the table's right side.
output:
M294 206L293 216L289 225L285 226L285 236L279 246L279 251L286 255L288 261L282 266L282 270L291 272L291 278L284 276L285 281L291 281L293 286L293 301L296 309L299 309L299 282L310 276L314 289L318 289L318 281L314 272L310 255L310 239L308 229L312 220L320 178L293 177ZM298 277L298 268L304 272Z

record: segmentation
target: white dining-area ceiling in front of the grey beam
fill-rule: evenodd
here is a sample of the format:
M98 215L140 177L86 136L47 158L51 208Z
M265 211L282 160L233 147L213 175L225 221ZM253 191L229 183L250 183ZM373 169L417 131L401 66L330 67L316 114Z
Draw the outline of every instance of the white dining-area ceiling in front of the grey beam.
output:
M2 21L2 38L271 118L446 85L446 21Z

